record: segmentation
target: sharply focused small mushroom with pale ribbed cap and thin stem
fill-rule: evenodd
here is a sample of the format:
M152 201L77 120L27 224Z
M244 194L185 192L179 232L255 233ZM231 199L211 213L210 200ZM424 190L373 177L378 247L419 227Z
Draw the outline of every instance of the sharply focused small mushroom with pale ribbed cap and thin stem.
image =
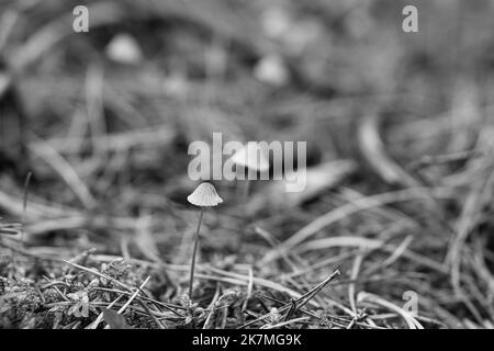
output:
M201 229L202 217L204 215L204 207L213 207L223 202L223 199L216 192L213 184L204 182L199 184L198 188L187 196L187 201L192 205L201 207L201 214L199 215L198 229L195 231L194 248L192 251L192 261L190 265L190 283L189 283L189 298L192 299L192 283L194 280L195 256L198 253L199 245L199 230Z

